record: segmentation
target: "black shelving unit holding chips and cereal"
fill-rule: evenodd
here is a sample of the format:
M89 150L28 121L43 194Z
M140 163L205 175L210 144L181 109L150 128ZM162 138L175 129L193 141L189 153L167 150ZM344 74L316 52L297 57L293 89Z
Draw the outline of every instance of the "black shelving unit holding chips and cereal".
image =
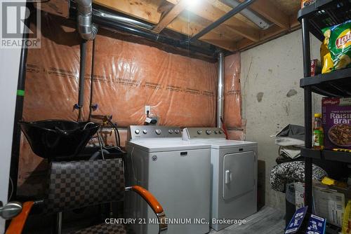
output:
M322 29L351 19L351 0L317 0L298 12L303 31L303 76L300 87L305 95L305 205L312 212L312 160L324 159L351 163L351 153L316 151L312 149L312 92L328 97L351 96L351 69L333 71L329 74L310 74L310 33L324 40Z

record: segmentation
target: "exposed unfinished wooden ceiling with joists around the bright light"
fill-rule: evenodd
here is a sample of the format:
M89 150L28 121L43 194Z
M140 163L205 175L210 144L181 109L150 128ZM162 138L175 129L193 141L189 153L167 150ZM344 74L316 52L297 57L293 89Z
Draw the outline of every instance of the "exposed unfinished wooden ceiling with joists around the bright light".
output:
M195 7L187 7L188 1L193 0L93 1L95 4L152 23L156 33L167 28L190 37L232 10L221 0L202 0L199 6ZM249 10L274 23L270 28L260 29L239 13L201 36L199 40L232 52L245 50L300 27L296 20L299 7L300 4L296 0L256 0L249 6ZM188 14L185 14L185 11Z

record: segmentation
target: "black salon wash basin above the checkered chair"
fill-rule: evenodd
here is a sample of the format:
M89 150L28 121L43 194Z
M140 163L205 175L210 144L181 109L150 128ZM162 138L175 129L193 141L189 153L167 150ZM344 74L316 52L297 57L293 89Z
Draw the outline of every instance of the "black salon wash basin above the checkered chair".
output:
M95 135L100 124L92 122L48 120L20 122L32 151L41 158L72 158Z

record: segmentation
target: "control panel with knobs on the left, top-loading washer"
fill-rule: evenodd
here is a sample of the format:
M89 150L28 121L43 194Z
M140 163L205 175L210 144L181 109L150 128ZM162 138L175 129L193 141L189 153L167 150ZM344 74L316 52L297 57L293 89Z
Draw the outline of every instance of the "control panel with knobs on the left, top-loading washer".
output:
M153 137L181 137L179 127L158 125L131 125L128 127L127 139L153 138Z

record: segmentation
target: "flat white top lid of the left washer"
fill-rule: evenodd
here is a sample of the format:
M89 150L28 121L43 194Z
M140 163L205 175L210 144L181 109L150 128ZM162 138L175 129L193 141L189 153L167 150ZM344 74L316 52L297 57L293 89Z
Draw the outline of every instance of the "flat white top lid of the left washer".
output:
M128 142L130 146L147 152L183 151L192 149L210 149L211 145L202 142L183 141L182 139L135 139Z

